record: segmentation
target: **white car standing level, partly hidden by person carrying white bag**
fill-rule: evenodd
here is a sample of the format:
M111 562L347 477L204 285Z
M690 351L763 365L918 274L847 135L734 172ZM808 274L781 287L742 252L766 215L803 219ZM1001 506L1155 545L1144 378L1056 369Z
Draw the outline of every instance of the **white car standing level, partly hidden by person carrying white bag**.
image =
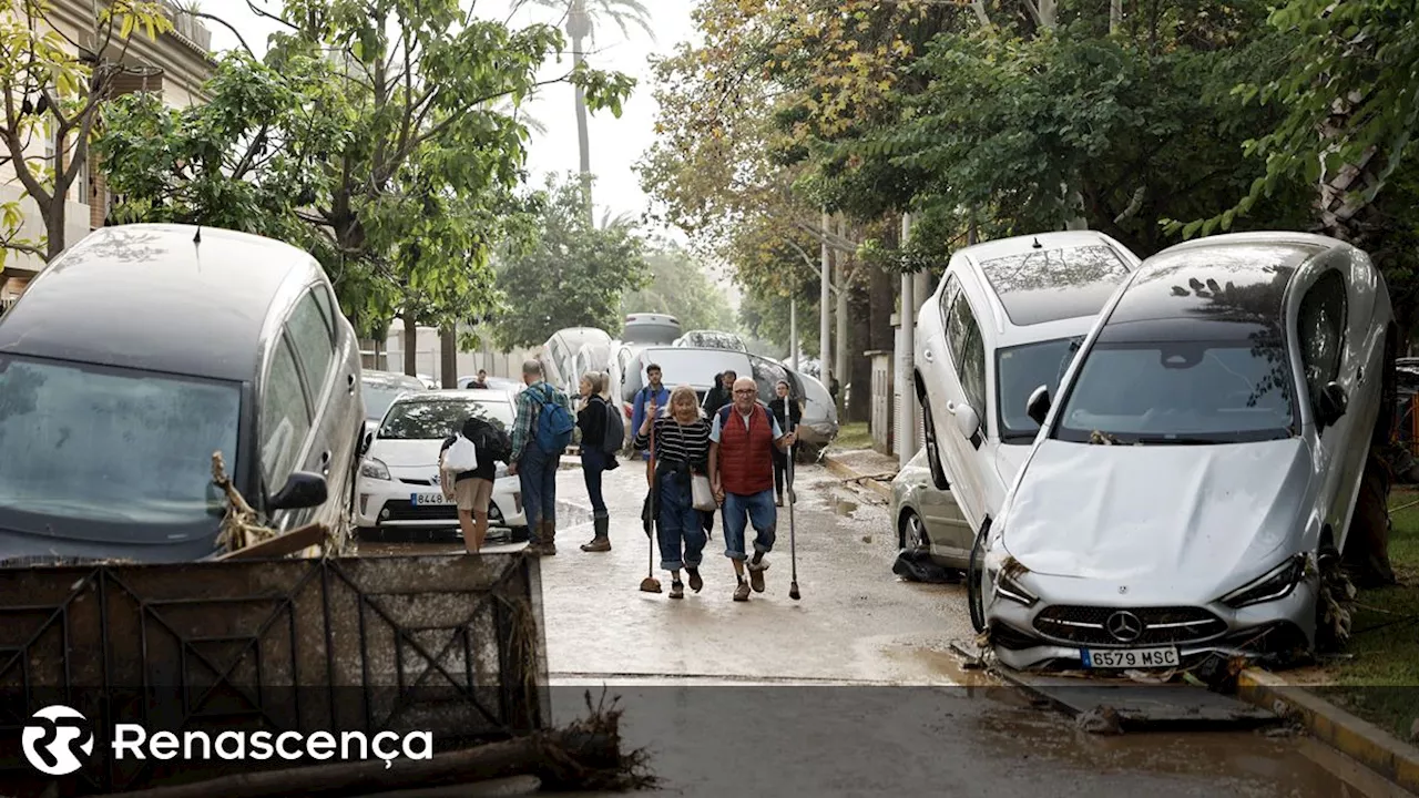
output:
M356 486L355 521L362 535L458 531L458 510L438 487L438 450L477 415L512 433L515 409L507 390L406 393L389 406L369 437ZM488 505L490 527L526 540L522 487L499 463Z

